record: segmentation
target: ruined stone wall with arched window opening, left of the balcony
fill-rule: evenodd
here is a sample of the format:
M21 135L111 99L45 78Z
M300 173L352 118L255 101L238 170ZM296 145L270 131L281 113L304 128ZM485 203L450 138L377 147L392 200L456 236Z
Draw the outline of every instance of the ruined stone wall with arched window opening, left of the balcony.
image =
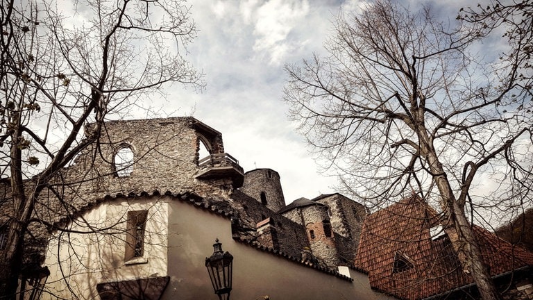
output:
M87 126L85 135L94 134L92 128ZM200 135L212 144L212 151L224 151L221 134L192 117L106 122L98 142L84 149L42 191L34 217L58 222L103 201L108 194L158 190L161 194L194 192L227 199L228 181L194 178L199 170ZM128 176L117 176L115 154L124 147L133 151L133 166ZM26 183L31 189L31 182ZM10 199L10 195L5 198ZM0 222L12 215L13 206L8 202L0 203ZM33 222L28 230L31 234L26 237L26 260L42 263L48 230L40 222Z

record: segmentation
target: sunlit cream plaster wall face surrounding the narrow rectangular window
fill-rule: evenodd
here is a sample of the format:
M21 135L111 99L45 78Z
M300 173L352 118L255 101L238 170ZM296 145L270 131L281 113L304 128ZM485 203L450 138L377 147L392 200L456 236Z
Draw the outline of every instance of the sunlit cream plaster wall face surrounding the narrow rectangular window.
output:
M99 299L98 283L167 275L167 197L103 203L51 236L42 299ZM128 211L148 210L144 255L126 261Z

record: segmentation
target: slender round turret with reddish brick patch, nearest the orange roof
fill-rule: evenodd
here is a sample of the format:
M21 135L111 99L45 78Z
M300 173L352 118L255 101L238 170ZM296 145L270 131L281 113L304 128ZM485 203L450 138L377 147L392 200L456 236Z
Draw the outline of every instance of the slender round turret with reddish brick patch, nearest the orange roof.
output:
M314 205L304 206L301 208L301 216L313 255L324 260L328 266L337 267L339 256L328 206L316 202Z

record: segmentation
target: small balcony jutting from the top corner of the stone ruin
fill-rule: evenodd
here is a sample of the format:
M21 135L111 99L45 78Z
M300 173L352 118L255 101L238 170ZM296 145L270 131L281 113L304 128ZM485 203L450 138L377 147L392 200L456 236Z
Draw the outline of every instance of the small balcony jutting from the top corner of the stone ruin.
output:
M200 169L194 178L210 180L230 178L233 188L242 187L244 181L244 169L239 165L239 161L228 153L211 154L208 157L198 160Z

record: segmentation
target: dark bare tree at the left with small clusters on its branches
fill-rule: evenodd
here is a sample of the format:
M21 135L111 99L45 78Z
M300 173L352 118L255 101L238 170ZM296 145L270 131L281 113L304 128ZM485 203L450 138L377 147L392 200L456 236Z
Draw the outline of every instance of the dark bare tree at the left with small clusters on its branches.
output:
M2 2L0 174L12 199L1 216L3 296L15 297L41 192L53 190L51 181L100 136L103 122L142 106L165 83L203 85L180 56L195 35L185 1Z

